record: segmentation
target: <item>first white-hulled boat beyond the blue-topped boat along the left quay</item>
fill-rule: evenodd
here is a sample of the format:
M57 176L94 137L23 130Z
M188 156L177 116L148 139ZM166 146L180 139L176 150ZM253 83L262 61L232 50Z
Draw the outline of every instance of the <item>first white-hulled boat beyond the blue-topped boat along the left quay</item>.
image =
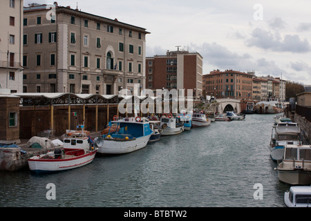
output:
M162 115L160 118L160 126L162 128L162 136L167 135L177 135L184 131L184 126L182 122L178 122L178 118L173 117L173 115Z

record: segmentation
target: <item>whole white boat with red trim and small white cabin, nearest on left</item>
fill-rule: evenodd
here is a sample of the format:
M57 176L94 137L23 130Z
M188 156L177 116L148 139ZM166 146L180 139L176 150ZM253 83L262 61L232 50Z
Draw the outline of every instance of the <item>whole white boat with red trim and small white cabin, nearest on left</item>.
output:
M97 148L84 131L71 133L64 138L64 148L35 155L28 159L30 171L37 173L65 171L93 161Z

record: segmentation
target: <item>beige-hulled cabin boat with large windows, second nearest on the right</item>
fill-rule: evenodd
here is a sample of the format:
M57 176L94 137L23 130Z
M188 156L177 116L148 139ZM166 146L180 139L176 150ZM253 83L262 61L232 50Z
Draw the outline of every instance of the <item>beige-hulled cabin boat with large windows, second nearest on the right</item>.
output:
M311 146L286 145L277 166L279 180L288 184L311 184Z

